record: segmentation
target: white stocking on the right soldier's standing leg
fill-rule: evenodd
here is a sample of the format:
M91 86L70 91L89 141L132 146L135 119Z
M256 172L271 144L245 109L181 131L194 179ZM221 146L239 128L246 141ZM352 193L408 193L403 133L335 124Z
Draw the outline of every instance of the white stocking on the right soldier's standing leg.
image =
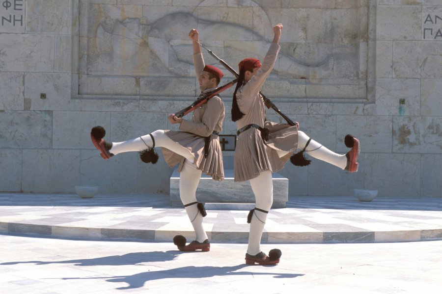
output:
M269 211L273 203L273 180L272 172L265 171L254 179L250 180L250 186L255 195L255 207ZM255 210L250 221L249 246L247 253L256 255L261 252L261 237L264 225L267 220L267 213Z

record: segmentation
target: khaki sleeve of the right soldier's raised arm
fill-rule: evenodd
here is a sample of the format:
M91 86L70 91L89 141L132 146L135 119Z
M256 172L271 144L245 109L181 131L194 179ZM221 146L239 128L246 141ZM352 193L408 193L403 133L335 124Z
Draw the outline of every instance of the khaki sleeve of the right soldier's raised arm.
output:
M279 45L272 42L258 72L252 76L249 82L241 87L241 99L237 101L240 110L250 109L251 104L254 103L254 99L258 97L256 94L258 94L266 78L272 72L279 49Z

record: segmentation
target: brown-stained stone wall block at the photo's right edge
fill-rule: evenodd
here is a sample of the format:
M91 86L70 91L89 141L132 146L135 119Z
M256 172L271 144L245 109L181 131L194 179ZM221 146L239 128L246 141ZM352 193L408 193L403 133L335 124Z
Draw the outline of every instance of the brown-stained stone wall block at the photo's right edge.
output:
M441 117L393 117L393 152L441 153Z

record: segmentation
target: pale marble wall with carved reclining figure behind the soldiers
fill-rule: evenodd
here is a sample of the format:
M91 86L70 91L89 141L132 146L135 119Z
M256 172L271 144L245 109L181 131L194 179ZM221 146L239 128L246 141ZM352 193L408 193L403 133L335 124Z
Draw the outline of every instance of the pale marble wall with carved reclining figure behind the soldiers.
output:
M198 94L191 28L236 68L262 58L282 23L262 91L331 150L347 152L347 133L361 142L358 173L287 164L289 195L442 196L440 0L1 0L0 20L0 191L167 194L164 160L104 161L90 128L110 141L172 128L167 114ZM236 131L232 92L223 134Z

